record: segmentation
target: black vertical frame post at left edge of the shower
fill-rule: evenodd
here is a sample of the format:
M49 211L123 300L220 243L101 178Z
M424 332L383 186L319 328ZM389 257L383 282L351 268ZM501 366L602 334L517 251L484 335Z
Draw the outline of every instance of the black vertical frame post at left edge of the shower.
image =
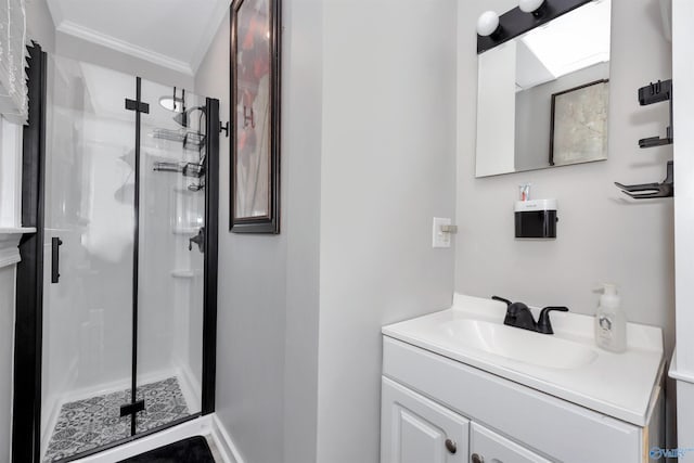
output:
M13 463L38 462L41 435L47 55L36 42L27 50L29 117L23 134L22 223L36 228L36 233L22 237L16 270Z

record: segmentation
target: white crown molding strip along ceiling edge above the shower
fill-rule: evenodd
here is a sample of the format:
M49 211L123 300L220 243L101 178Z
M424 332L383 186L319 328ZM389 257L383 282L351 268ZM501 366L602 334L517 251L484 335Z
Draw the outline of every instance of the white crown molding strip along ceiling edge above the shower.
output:
M117 39L115 37L102 34L98 30L90 29L80 24L73 23L72 21L63 21L55 28L59 33L66 34L68 36L77 37L79 39L100 44L102 47L110 48L120 53L128 54L130 56L144 60L163 67L176 70L188 76L193 75L193 67L190 63L184 61L175 60L162 53L157 53L150 49L139 47L129 43L125 40Z

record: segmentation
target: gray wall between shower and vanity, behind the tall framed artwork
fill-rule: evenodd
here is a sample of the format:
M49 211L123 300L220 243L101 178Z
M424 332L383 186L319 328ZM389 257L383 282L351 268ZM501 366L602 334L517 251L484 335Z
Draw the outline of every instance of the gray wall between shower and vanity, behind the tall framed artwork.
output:
M221 145L217 413L250 463L377 462L381 326L451 301L455 3L284 3L280 236L227 231ZM228 47L195 87L223 115Z

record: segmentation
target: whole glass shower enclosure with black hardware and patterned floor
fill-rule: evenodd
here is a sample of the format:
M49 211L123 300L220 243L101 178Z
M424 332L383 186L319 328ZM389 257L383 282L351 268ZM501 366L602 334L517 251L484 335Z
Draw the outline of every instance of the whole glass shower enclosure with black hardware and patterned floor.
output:
M47 66L40 461L214 408L219 105Z

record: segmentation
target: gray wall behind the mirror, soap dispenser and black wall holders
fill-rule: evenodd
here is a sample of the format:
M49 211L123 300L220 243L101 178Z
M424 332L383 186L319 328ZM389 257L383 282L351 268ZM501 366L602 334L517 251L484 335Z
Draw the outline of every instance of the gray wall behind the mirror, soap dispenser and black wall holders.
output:
M672 345L672 200L634 202L614 181L665 178L670 146L640 150L638 140L665 134L667 104L639 106L637 89L671 76L671 47L657 0L613 0L608 159L534 172L474 178L475 20L513 0L477 0L459 16L459 149L455 291L492 294L531 305L567 305L592 314L600 282L620 286L627 318L663 326ZM647 59L644 59L647 56ZM555 241L516 241L518 184L535 198L558 200ZM479 220L484 217L484 220Z

